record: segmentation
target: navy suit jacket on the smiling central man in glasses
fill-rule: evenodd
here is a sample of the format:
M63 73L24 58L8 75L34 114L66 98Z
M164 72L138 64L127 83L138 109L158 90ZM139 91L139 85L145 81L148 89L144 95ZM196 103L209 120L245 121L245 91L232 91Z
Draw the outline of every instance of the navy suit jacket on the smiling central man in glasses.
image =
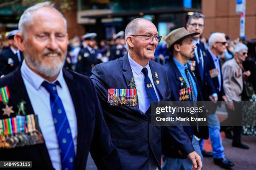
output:
M154 85L161 100L171 97L164 67L150 60ZM154 73L159 75L156 83ZM147 115L136 106L110 107L108 101L109 88L129 88L133 77L128 55L96 65L92 70L91 79L95 84L105 120L107 122L113 144L118 149L120 160L125 170L148 170L150 154L154 155L159 169L161 163L161 127L152 126ZM187 155L194 151L191 142L181 127L163 127L166 136L172 136L177 147ZM163 148L164 150L164 148Z

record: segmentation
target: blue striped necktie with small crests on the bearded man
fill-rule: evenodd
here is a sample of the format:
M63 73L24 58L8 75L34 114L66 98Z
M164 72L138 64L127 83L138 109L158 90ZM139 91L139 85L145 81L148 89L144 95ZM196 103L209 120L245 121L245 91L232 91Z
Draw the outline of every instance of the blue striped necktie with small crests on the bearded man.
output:
M75 157L74 143L64 106L57 93L56 82L53 84L43 82L42 86L50 94L51 113L60 148L61 169L72 170Z

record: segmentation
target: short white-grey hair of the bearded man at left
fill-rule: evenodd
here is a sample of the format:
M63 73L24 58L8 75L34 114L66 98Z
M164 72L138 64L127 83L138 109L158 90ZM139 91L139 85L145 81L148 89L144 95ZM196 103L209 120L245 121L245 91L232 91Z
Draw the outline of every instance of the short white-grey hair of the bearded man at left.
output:
M61 12L59 12L58 10L56 10L56 8L54 8L54 4L52 4L49 1L46 2L41 2L38 3L36 5L33 5L31 7L29 7L28 9L26 9L24 11L24 13L21 15L20 20L19 20L19 24L18 24L18 28L20 30L20 33L26 37L26 29L33 24L33 16L32 13L42 7L49 7L53 10L55 10L57 13L59 13L59 15L61 15L61 17L63 18L64 21L64 25L65 28L67 30L67 20L64 18L64 16L62 15Z

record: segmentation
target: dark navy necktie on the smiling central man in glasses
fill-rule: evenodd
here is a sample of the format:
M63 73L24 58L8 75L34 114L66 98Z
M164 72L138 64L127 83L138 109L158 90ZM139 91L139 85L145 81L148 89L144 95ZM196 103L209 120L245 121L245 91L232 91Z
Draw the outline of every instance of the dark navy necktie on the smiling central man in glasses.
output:
M148 77L148 69L146 67L143 67L142 72L145 75L144 83L148 94L149 102L158 101L153 84ZM146 115L148 115L148 117L151 118L151 107L149 107L148 110L146 111Z

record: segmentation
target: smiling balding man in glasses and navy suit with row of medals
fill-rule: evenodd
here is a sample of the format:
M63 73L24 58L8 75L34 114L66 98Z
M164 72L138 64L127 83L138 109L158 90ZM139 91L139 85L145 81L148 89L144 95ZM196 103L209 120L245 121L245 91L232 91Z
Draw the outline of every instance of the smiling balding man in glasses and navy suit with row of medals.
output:
M132 20L125 28L128 53L95 65L91 79L124 170L161 169L162 130L201 169L200 156L181 127L151 125L150 102L171 97L164 67L151 60L160 40L151 21Z

